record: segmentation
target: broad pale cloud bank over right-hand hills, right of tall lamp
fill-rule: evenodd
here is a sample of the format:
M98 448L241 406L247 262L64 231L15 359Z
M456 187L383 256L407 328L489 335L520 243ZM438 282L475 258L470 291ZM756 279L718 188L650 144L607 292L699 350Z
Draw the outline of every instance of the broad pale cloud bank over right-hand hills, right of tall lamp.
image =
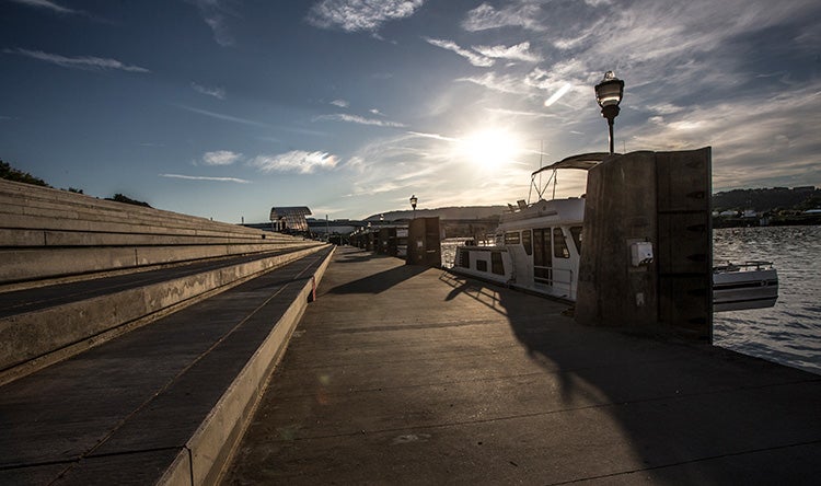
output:
M767 99L739 97L651 116L624 127L628 144L649 150L713 146L716 189L821 183L816 137L821 126L821 83ZM770 180L770 182L767 182Z

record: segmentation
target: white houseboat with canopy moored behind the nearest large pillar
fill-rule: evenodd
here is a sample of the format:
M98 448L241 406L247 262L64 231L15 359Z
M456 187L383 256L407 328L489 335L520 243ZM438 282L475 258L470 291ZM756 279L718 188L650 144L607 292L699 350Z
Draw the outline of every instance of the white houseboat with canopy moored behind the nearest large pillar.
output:
M531 174L535 202L518 201L499 219L495 245L466 244L456 248L452 270L508 287L576 301L582 245L585 196L556 199L556 175L563 169L590 170L609 153L574 155ZM537 178L551 175L544 185ZM553 187L553 198L545 200ZM713 274L714 311L773 306L778 277L770 263L716 267Z

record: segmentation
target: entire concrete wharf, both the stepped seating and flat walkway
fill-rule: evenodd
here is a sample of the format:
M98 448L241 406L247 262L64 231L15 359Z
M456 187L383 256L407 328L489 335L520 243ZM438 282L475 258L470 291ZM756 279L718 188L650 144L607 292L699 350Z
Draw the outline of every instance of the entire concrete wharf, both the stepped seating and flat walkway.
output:
M0 485L818 483L821 377L566 311L0 181Z

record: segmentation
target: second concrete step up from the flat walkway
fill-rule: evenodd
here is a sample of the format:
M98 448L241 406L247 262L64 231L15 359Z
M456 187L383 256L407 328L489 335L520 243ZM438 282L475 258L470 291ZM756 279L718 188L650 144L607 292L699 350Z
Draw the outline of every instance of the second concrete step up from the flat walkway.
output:
M312 245L200 259L137 274L0 293L0 383L82 352L326 247ZM130 252L134 258L134 248L124 252ZM67 257L60 251L50 254L55 262L60 262L60 255L65 263L81 259ZM14 265L25 268L31 263L23 258Z

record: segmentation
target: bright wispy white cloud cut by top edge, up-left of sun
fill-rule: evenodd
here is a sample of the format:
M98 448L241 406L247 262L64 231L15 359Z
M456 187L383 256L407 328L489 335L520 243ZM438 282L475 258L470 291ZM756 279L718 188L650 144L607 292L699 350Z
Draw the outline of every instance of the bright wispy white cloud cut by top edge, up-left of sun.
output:
M308 12L308 23L345 32L375 32L385 22L410 16L424 0L322 0Z

